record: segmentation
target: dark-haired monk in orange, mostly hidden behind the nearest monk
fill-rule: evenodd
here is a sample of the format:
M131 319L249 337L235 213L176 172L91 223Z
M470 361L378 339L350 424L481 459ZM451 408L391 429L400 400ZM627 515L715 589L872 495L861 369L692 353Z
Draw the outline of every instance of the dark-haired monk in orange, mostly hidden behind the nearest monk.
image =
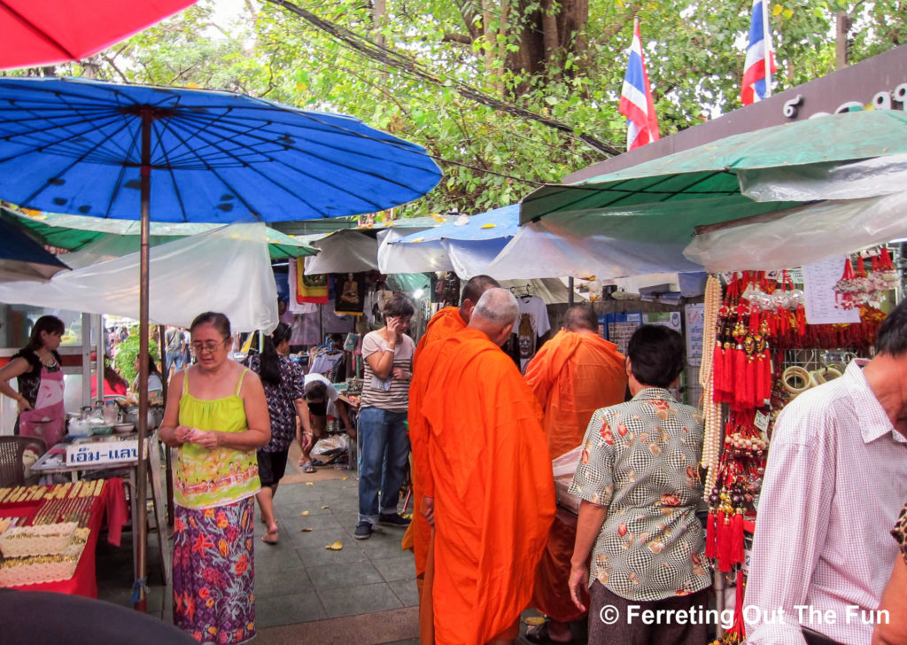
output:
M415 347L413 355L413 374L419 374L424 367L421 365L420 357L425 349L439 340L444 340L453 336L458 331L463 331L469 324L469 319L473 315L475 303L482 298L482 294L490 288L500 287L497 280L489 276L475 276L469 279L463 286L463 295L460 298L460 307L445 307L436 313L428 326L425 327L424 336L419 340L418 346ZM415 381L414 381L415 383ZM409 387L409 410L408 421L410 432L414 425L422 422L422 416L414 413L422 405L424 389ZM413 501L414 508L418 512L422 504L423 485L415 468L413 469ZM422 593L422 581L425 572L425 556L428 552L428 541L431 537L431 527L425 521L420 513L413 513L413 522L410 523L403 536L402 546L404 549L412 549L415 556L415 581Z

